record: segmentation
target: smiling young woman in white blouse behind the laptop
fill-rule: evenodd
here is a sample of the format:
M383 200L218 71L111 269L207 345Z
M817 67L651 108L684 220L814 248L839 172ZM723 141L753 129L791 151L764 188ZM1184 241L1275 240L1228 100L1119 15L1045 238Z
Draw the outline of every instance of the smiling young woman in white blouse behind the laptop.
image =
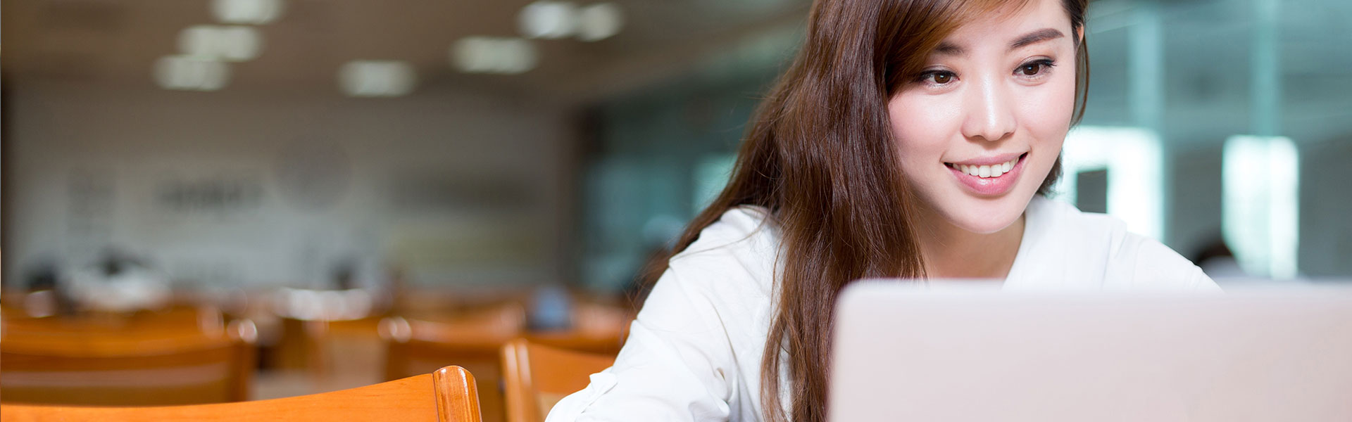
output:
M615 365L561 421L822 421L831 306L861 277L1214 289L1044 196L1084 89L1087 0L818 0L731 181Z

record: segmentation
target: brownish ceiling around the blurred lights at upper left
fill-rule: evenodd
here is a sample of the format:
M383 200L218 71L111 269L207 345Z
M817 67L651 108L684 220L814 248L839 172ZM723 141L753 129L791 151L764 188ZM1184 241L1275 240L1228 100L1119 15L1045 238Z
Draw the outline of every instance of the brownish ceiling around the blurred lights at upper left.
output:
M773 27L800 26L804 0L614 0L625 28L600 42L533 41L537 69L465 74L449 62L464 37L519 37L527 0L288 0L258 26L258 58L231 65L227 89L330 87L352 60L411 62L420 85L587 99L688 72L702 57ZM580 5L595 1L576 1ZM153 87L151 68L177 53L177 35L212 24L210 0L7 0L4 70L14 77L115 81Z

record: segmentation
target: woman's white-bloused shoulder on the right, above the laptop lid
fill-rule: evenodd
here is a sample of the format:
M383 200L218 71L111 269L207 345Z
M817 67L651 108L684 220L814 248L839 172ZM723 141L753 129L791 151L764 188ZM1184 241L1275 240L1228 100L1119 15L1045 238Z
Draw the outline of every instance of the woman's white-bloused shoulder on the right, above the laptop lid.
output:
M1191 261L1157 239L1130 231L1117 216L1083 212L1041 196L1029 211L1034 230L1028 231L1037 231L1033 235L1038 249L1064 257L1067 276L1099 279L1105 289L1215 287Z

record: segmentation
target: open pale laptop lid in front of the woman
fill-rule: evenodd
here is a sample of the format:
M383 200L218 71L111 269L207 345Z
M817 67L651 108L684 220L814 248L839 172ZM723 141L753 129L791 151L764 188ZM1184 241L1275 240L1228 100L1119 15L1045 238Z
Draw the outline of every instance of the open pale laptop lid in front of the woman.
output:
M1352 291L856 283L830 421L1352 421Z

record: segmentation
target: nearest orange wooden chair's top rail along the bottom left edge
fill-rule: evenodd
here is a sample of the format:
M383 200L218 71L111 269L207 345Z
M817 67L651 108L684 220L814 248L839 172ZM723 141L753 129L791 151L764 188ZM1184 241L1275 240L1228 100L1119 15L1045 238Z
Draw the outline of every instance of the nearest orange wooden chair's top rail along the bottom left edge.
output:
M460 367L304 396L195 406L0 404L0 422L46 421L439 421L479 422L475 377Z

